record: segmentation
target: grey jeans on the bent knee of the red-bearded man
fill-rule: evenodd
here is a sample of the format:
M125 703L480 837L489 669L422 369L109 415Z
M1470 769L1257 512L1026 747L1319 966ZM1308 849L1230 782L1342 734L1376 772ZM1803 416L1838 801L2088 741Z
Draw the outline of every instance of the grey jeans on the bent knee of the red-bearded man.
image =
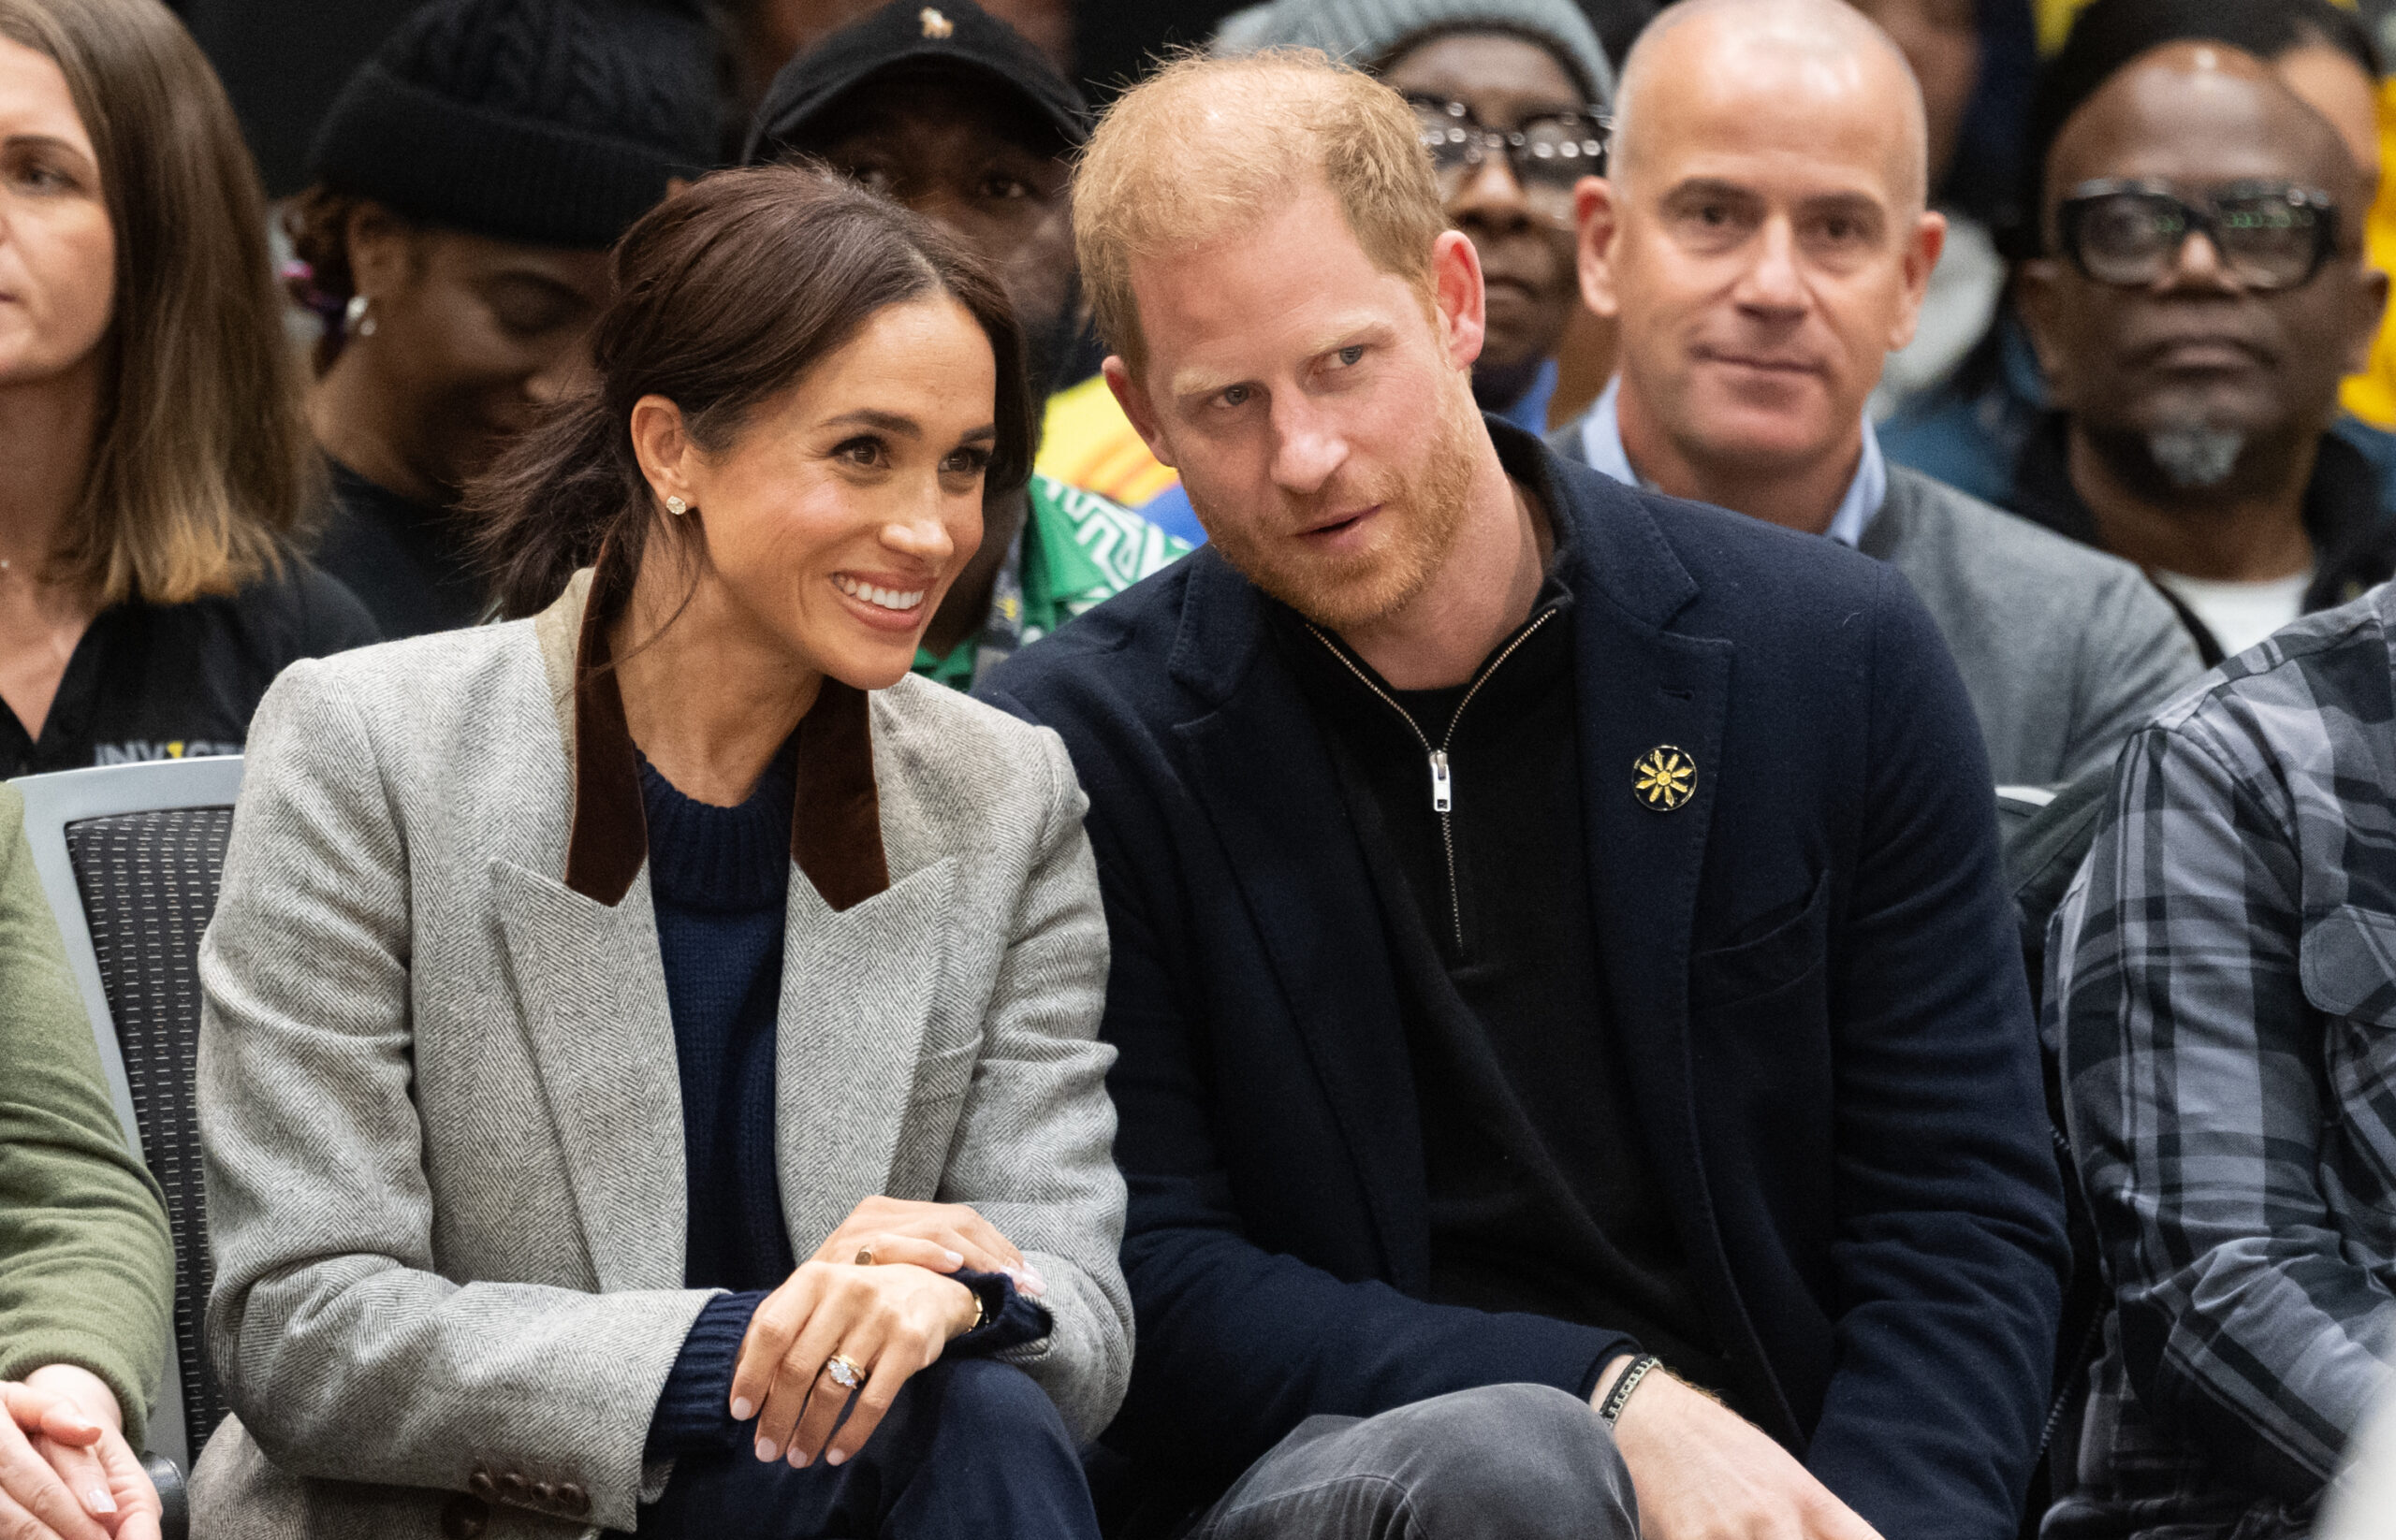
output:
M1589 1401L1490 1384L1378 1418L1306 1418L1188 1538L1639 1540L1639 1504Z

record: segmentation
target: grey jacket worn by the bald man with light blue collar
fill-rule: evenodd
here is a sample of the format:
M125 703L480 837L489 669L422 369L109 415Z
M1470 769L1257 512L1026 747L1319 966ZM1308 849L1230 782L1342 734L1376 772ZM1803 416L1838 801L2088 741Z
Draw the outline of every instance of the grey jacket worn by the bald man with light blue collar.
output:
M1579 422L1548 443L1586 460ZM1888 467L1862 548L1905 575L1955 654L1998 786L2058 786L2113 764L2204 673L2144 572L1917 469Z

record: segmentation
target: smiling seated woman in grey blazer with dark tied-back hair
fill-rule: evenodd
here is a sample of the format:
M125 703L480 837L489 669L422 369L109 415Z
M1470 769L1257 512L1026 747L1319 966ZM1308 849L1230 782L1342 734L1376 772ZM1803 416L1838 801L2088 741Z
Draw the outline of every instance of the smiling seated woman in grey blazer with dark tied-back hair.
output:
M1021 333L793 168L613 278L594 383L474 493L539 616L259 711L194 1533L1095 1535L1131 1305L1083 798L908 673L1030 472Z

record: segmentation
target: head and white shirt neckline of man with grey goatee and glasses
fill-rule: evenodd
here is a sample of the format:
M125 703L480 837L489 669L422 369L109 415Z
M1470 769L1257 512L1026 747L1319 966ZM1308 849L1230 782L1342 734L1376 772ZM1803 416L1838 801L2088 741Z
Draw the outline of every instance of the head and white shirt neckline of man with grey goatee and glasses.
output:
M2355 546L2386 539L2370 465L2329 433L2386 297L2370 196L2238 50L2070 62L2039 101L2046 256L2020 278L2056 412L2015 508L2147 568L2207 659L2238 654L2360 592Z

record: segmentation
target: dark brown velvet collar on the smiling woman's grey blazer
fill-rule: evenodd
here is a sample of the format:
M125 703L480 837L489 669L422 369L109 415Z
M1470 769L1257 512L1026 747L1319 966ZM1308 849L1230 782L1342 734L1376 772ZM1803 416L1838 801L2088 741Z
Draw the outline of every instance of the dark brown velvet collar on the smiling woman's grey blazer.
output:
M609 908L623 903L649 860L640 759L606 642L628 587L609 582L601 556L575 642L575 821L565 843L565 886ZM831 678L798 723L791 860L834 910L891 886L882 853L882 793L875 788L872 709L863 690Z

